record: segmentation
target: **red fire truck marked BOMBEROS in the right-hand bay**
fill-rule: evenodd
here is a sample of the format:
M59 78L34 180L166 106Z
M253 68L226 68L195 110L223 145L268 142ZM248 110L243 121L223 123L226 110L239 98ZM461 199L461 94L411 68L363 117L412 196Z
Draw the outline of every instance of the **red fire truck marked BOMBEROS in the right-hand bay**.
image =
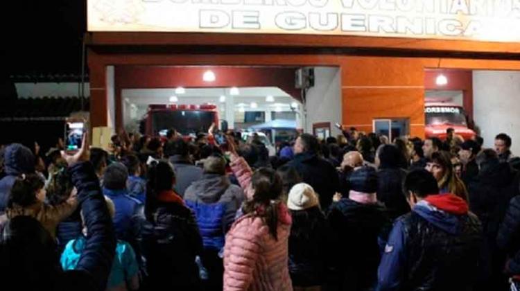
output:
M460 105L426 100L424 114L426 115L426 126L424 127L426 138L437 137L444 140L449 127L465 140L475 136L475 132L467 127L467 118Z

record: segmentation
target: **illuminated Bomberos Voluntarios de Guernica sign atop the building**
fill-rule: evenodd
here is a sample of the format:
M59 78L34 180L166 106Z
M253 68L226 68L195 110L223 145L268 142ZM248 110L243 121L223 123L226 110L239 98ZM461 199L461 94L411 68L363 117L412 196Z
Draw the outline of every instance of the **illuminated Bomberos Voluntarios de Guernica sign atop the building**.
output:
M520 42L520 0L87 0L89 31Z

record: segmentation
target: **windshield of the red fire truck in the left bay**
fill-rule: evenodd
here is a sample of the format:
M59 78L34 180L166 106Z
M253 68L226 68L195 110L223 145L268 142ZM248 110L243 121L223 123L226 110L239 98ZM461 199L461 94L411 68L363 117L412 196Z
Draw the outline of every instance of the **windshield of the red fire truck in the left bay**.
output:
M207 132L214 122L215 112L198 110L164 110L152 113L153 132L159 134L163 130L175 128L177 132L188 135L196 132Z

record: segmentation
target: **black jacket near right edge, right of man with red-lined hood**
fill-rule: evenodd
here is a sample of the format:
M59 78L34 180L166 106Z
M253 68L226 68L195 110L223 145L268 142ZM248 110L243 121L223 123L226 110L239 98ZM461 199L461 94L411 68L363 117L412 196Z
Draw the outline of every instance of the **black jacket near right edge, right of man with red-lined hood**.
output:
M470 209L478 216L483 227L478 285L489 284L491 288L506 281L505 277L501 277L505 254L496 245L496 235L509 201L519 194L519 175L508 163L501 163L483 168L478 177L470 181Z

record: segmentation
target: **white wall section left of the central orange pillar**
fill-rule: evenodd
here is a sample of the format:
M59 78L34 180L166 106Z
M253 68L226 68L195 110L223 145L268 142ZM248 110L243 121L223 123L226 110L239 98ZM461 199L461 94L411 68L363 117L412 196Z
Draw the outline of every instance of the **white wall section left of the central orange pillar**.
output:
M330 122L331 135L341 132L341 73L338 68L315 67L314 87L307 91L305 132L313 132L313 123Z

